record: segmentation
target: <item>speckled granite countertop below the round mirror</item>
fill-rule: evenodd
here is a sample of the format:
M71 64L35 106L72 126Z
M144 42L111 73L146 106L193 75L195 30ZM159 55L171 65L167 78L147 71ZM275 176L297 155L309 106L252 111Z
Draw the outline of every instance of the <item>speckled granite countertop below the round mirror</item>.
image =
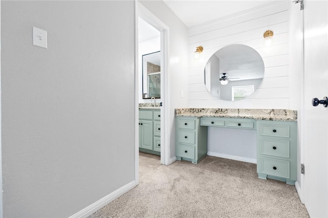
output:
M177 117L226 117L254 120L297 121L297 111L285 109L176 108Z

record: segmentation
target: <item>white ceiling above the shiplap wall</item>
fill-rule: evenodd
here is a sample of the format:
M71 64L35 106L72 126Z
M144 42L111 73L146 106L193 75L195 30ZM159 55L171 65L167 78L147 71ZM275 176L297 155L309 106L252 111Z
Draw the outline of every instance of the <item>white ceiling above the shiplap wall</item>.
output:
M275 0L281 1L281 0ZM187 27L203 24L230 14L260 7L265 0L163 0Z

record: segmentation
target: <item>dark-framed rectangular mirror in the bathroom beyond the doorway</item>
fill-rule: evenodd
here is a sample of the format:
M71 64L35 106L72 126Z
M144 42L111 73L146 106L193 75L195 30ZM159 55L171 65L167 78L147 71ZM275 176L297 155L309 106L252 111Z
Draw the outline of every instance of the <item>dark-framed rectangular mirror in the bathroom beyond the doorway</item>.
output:
M142 98L160 98L160 51L142 55Z

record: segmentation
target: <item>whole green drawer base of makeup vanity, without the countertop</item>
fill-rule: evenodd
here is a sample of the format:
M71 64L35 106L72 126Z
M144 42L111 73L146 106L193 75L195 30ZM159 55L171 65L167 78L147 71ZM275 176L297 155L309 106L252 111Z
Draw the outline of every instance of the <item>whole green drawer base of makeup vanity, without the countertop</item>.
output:
M258 178L294 185L297 180L297 122L222 117L176 117L176 156L198 163L207 153L207 126L254 129Z

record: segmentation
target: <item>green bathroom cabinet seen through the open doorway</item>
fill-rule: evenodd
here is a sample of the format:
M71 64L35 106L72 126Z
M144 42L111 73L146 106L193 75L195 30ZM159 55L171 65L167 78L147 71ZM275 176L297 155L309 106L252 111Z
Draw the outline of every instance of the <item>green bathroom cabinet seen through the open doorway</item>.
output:
M139 150L160 155L159 109L139 109Z

